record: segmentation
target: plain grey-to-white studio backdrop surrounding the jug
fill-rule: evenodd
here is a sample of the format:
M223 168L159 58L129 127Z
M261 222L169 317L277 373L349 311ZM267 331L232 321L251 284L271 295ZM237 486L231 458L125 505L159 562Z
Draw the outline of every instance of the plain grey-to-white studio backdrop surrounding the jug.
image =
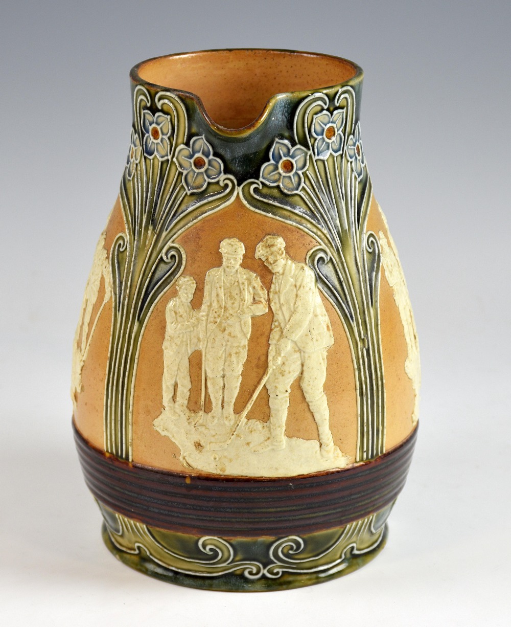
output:
M3 624L509 624L510 27L508 0L3 0ZM322 586L228 595L153 581L106 551L68 389L128 149L128 71L249 46L363 66L364 149L410 288L423 389L382 554Z

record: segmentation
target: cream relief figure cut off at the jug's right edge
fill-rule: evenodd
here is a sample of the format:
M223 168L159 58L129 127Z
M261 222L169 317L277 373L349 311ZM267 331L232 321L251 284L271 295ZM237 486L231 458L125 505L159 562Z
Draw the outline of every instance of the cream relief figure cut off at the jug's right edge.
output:
M415 329L415 320L413 319L410 296L408 295L408 289L406 288L405 275L403 274L403 268L401 267L401 262L396 252L397 249L388 229L385 214L381 211L379 206L378 208L385 223L389 240L386 240L383 231L379 231L378 236L382 257L381 263L383 264L383 269L385 270L385 277L392 288L394 301L398 307L401 322L403 324L403 330L405 332L406 349L408 352L405 361L405 372L411 380L413 391L415 392L415 404L411 415L411 421L413 424L416 424L419 418L419 391L421 383L417 331Z

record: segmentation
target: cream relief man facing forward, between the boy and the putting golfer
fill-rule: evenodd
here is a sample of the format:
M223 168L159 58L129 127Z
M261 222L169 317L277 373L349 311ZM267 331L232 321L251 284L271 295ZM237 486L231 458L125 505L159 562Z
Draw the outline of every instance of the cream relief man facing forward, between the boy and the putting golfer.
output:
M240 267L245 253L242 242L235 238L222 240L220 253L222 265L206 274L200 310L204 325L203 359L213 406L210 425L222 415L227 424L234 420L234 402L247 359L251 319L268 310L267 293L261 280Z

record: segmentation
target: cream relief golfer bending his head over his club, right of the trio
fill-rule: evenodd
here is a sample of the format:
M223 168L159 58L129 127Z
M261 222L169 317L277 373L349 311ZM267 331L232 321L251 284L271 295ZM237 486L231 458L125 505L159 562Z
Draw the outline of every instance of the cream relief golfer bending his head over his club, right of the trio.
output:
M314 272L289 258L285 248L286 242L276 235L267 235L255 248L255 258L261 259L273 273L269 293L273 322L266 382L271 437L254 451L281 450L286 446L289 393L292 382L300 376L300 387L317 424L321 453L329 456L334 452L334 443L323 386L326 353L334 336Z

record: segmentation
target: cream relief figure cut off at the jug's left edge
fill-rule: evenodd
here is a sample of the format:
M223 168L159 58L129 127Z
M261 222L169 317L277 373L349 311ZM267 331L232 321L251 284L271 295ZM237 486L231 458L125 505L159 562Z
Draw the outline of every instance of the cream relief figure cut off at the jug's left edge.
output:
M71 371L71 400L73 401L73 409L76 411L76 401L78 394L82 390L81 384L81 371L83 364L90 347L90 342L93 333L96 329L96 324L100 319L101 312L106 303L111 298L111 278L110 278L110 264L108 263L108 253L105 248L106 231L103 231L100 236L100 240L96 245L94 253L94 259L92 268L87 279L85 286L85 294L83 296L83 302L81 305L80 319L78 320L78 326L76 327L75 339L73 341L73 367ZM103 302L96 314L94 322L91 326L91 318L94 305L98 300L100 293L101 278L103 278L105 285L105 295ZM91 327L91 328L90 328ZM90 330L89 330L90 329Z

